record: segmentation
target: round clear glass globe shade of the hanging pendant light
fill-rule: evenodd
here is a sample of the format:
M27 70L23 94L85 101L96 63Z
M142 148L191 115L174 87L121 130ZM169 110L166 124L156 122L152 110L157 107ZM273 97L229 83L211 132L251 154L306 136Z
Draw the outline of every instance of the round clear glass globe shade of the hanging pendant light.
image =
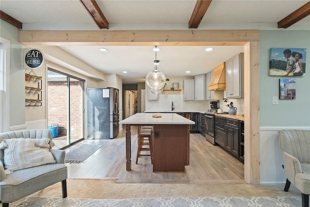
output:
M159 70L152 70L146 76L146 84L153 90L163 89L166 83L166 76Z

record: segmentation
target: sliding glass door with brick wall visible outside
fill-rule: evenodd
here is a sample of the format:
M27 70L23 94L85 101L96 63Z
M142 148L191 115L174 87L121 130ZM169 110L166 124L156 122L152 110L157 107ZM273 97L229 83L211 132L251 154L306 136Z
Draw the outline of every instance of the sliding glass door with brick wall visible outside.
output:
M85 80L47 68L47 124L55 148L85 138Z

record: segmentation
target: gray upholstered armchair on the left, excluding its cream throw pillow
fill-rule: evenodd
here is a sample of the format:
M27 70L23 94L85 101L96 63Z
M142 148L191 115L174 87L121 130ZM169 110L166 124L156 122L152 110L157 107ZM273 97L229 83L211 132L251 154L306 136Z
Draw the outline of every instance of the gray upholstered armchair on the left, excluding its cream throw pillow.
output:
M56 163L16 170L5 175L4 150L0 149L0 202L2 207L8 207L9 203L60 181L62 182L62 197L67 197L66 179L68 175L67 166L64 165L65 151L51 149L54 143L50 130L32 129L0 133L0 142L12 138L50 139L49 149Z

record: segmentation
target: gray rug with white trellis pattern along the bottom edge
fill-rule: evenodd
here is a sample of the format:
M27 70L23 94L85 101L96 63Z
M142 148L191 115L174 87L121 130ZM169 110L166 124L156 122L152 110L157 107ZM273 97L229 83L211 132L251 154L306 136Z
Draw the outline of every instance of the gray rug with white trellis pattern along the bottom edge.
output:
M301 196L82 199L29 197L16 207L300 207Z

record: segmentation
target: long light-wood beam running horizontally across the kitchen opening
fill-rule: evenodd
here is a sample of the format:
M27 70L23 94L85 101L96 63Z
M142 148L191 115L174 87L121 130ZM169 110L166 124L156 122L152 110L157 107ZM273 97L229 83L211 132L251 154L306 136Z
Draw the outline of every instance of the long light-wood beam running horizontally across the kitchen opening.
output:
M249 41L260 41L259 30L18 31L18 42L24 45L227 46L245 45Z

